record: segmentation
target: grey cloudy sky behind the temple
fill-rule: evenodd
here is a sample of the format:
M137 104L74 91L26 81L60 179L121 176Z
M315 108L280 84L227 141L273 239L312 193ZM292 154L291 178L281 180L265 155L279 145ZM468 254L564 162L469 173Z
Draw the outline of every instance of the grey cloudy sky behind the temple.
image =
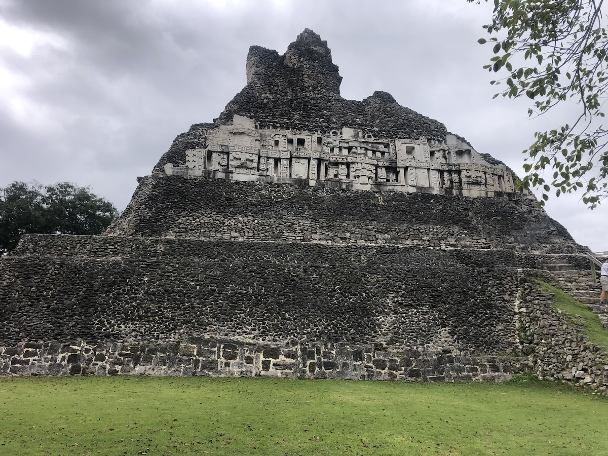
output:
M465 0L0 0L0 186L71 181L123 210L174 137L243 88L249 46L283 54L305 28L328 41L343 97L390 92L522 174L534 131L570 110L530 120L525 100L492 100L490 18ZM547 212L608 249L606 203L579 198Z

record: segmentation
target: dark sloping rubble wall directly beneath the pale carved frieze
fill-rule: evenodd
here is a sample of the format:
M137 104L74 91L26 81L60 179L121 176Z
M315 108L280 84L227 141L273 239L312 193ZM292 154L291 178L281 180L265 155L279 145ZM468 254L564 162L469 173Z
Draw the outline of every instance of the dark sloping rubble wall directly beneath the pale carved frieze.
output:
M533 200L149 176L109 235L584 252Z

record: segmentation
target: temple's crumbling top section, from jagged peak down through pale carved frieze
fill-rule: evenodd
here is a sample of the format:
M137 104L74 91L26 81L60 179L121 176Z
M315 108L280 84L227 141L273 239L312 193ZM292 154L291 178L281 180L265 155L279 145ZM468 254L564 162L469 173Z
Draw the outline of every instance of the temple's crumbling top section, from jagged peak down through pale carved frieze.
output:
M155 170L380 192L514 192L504 164L442 123L387 92L345 100L341 81L327 42L313 30L300 33L284 55L252 46L245 88L215 123L178 137Z

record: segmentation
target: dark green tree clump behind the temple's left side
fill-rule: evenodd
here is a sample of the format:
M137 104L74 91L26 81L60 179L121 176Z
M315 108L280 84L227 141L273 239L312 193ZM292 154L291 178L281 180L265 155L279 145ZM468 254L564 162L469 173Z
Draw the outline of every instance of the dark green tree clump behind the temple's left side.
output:
M100 234L118 216L114 204L70 182L0 187L0 255L24 233Z

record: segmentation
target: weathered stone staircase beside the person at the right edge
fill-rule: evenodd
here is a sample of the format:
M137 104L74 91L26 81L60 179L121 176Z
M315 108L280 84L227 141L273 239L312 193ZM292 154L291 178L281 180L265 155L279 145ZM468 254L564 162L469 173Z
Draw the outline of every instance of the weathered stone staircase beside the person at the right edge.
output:
M604 307L599 305L601 288L599 280L593 281L590 268L582 271L573 264L553 260L545 264L544 269L550 272L555 286L572 295L579 302L587 304L593 313L598 314L604 328L608 329L608 305Z

